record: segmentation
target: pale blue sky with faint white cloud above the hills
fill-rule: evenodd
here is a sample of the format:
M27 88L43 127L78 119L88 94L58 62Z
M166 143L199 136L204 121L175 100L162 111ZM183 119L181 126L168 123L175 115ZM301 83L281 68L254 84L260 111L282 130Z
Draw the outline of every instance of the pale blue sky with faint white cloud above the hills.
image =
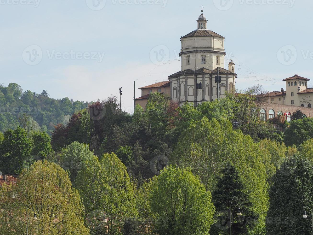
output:
M179 71L180 37L197 28L225 37L236 88L285 88L313 80L311 0L0 0L0 83L80 101L119 96L133 109L139 87ZM309 86L310 86L309 82Z

